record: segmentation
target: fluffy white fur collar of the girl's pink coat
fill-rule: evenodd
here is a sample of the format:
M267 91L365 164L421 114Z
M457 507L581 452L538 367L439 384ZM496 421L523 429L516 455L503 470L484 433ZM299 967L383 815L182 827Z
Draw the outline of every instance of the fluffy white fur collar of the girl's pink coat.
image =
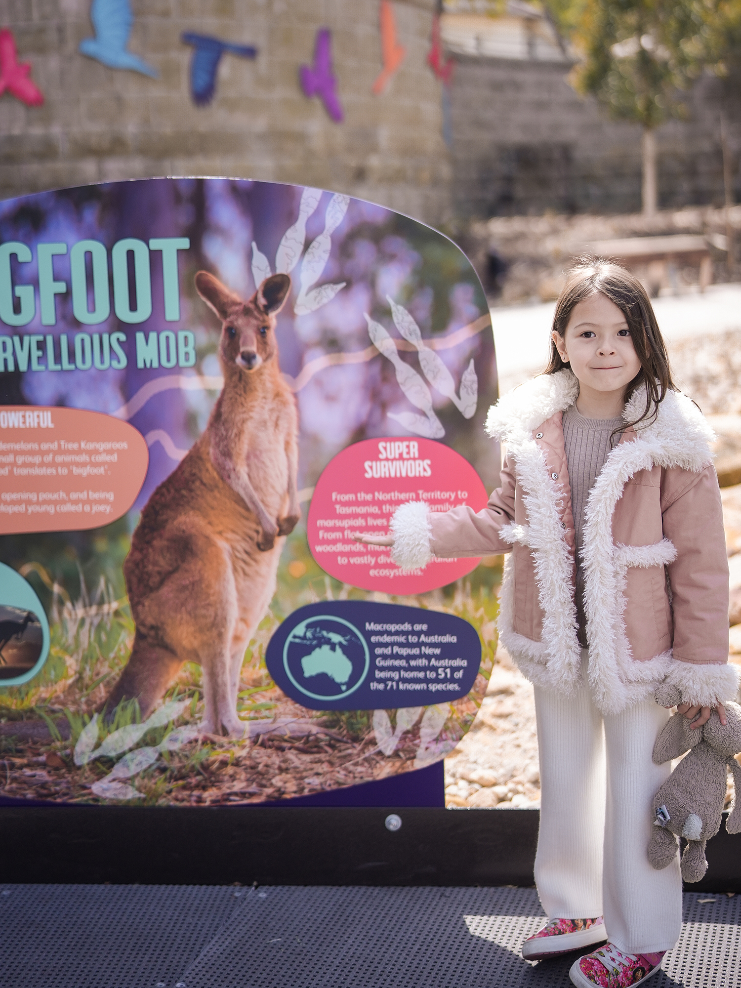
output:
M579 381L571 371L540 374L491 406L486 431L492 439L503 440L515 452L523 442L532 439L536 426L572 405L578 393ZM643 392L636 391L622 413L625 422L640 415L644 401ZM659 405L656 421L639 428L636 439L622 445L631 446L641 460L648 453L659 466L680 466L698 472L712 462L709 444L713 438L700 409L690 398L679 391L669 391Z

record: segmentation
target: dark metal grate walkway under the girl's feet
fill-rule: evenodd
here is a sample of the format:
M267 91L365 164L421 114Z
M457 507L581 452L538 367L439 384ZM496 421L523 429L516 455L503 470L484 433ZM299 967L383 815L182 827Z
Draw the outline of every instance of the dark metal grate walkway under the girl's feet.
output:
M534 889L0 885L2 988L516 988ZM741 896L685 895L652 988L741 988Z

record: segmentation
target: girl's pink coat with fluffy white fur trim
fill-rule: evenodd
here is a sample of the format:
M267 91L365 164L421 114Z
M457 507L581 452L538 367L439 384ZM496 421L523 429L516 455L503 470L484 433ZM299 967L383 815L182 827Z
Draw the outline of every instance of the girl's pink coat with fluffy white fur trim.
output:
M509 553L500 597L502 643L535 684L569 695L581 678L574 606L574 522L562 413L578 394L571 371L535 377L489 411L506 444L501 486L483 511L402 505L391 522L405 569L433 556ZM637 418L644 395L628 402ZM685 700L732 700L728 563L712 433L693 402L669 392L656 421L626 429L592 488L583 560L589 678L604 712L648 700L664 682Z

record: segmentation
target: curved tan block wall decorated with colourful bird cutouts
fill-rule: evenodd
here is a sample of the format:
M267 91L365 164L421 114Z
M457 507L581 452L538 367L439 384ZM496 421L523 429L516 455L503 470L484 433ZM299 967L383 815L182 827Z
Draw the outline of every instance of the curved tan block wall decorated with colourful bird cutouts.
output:
M401 68L381 96L378 0L131 0L128 48L150 79L78 53L92 37L90 0L2 0L19 60L30 61L44 104L0 97L0 198L90 182L158 175L227 175L315 185L439 223L450 214L450 156L441 83L426 57L435 0L394 0ZM307 100L298 67L320 27L345 121ZM185 31L254 44L225 54L213 102L196 107Z

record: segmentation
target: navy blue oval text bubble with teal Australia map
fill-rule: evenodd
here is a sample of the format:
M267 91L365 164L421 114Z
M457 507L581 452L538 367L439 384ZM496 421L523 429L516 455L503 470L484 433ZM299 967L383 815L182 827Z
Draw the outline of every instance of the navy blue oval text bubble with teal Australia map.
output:
M481 664L462 617L368 601L298 608L268 642L268 672L311 710L429 706L469 692Z

